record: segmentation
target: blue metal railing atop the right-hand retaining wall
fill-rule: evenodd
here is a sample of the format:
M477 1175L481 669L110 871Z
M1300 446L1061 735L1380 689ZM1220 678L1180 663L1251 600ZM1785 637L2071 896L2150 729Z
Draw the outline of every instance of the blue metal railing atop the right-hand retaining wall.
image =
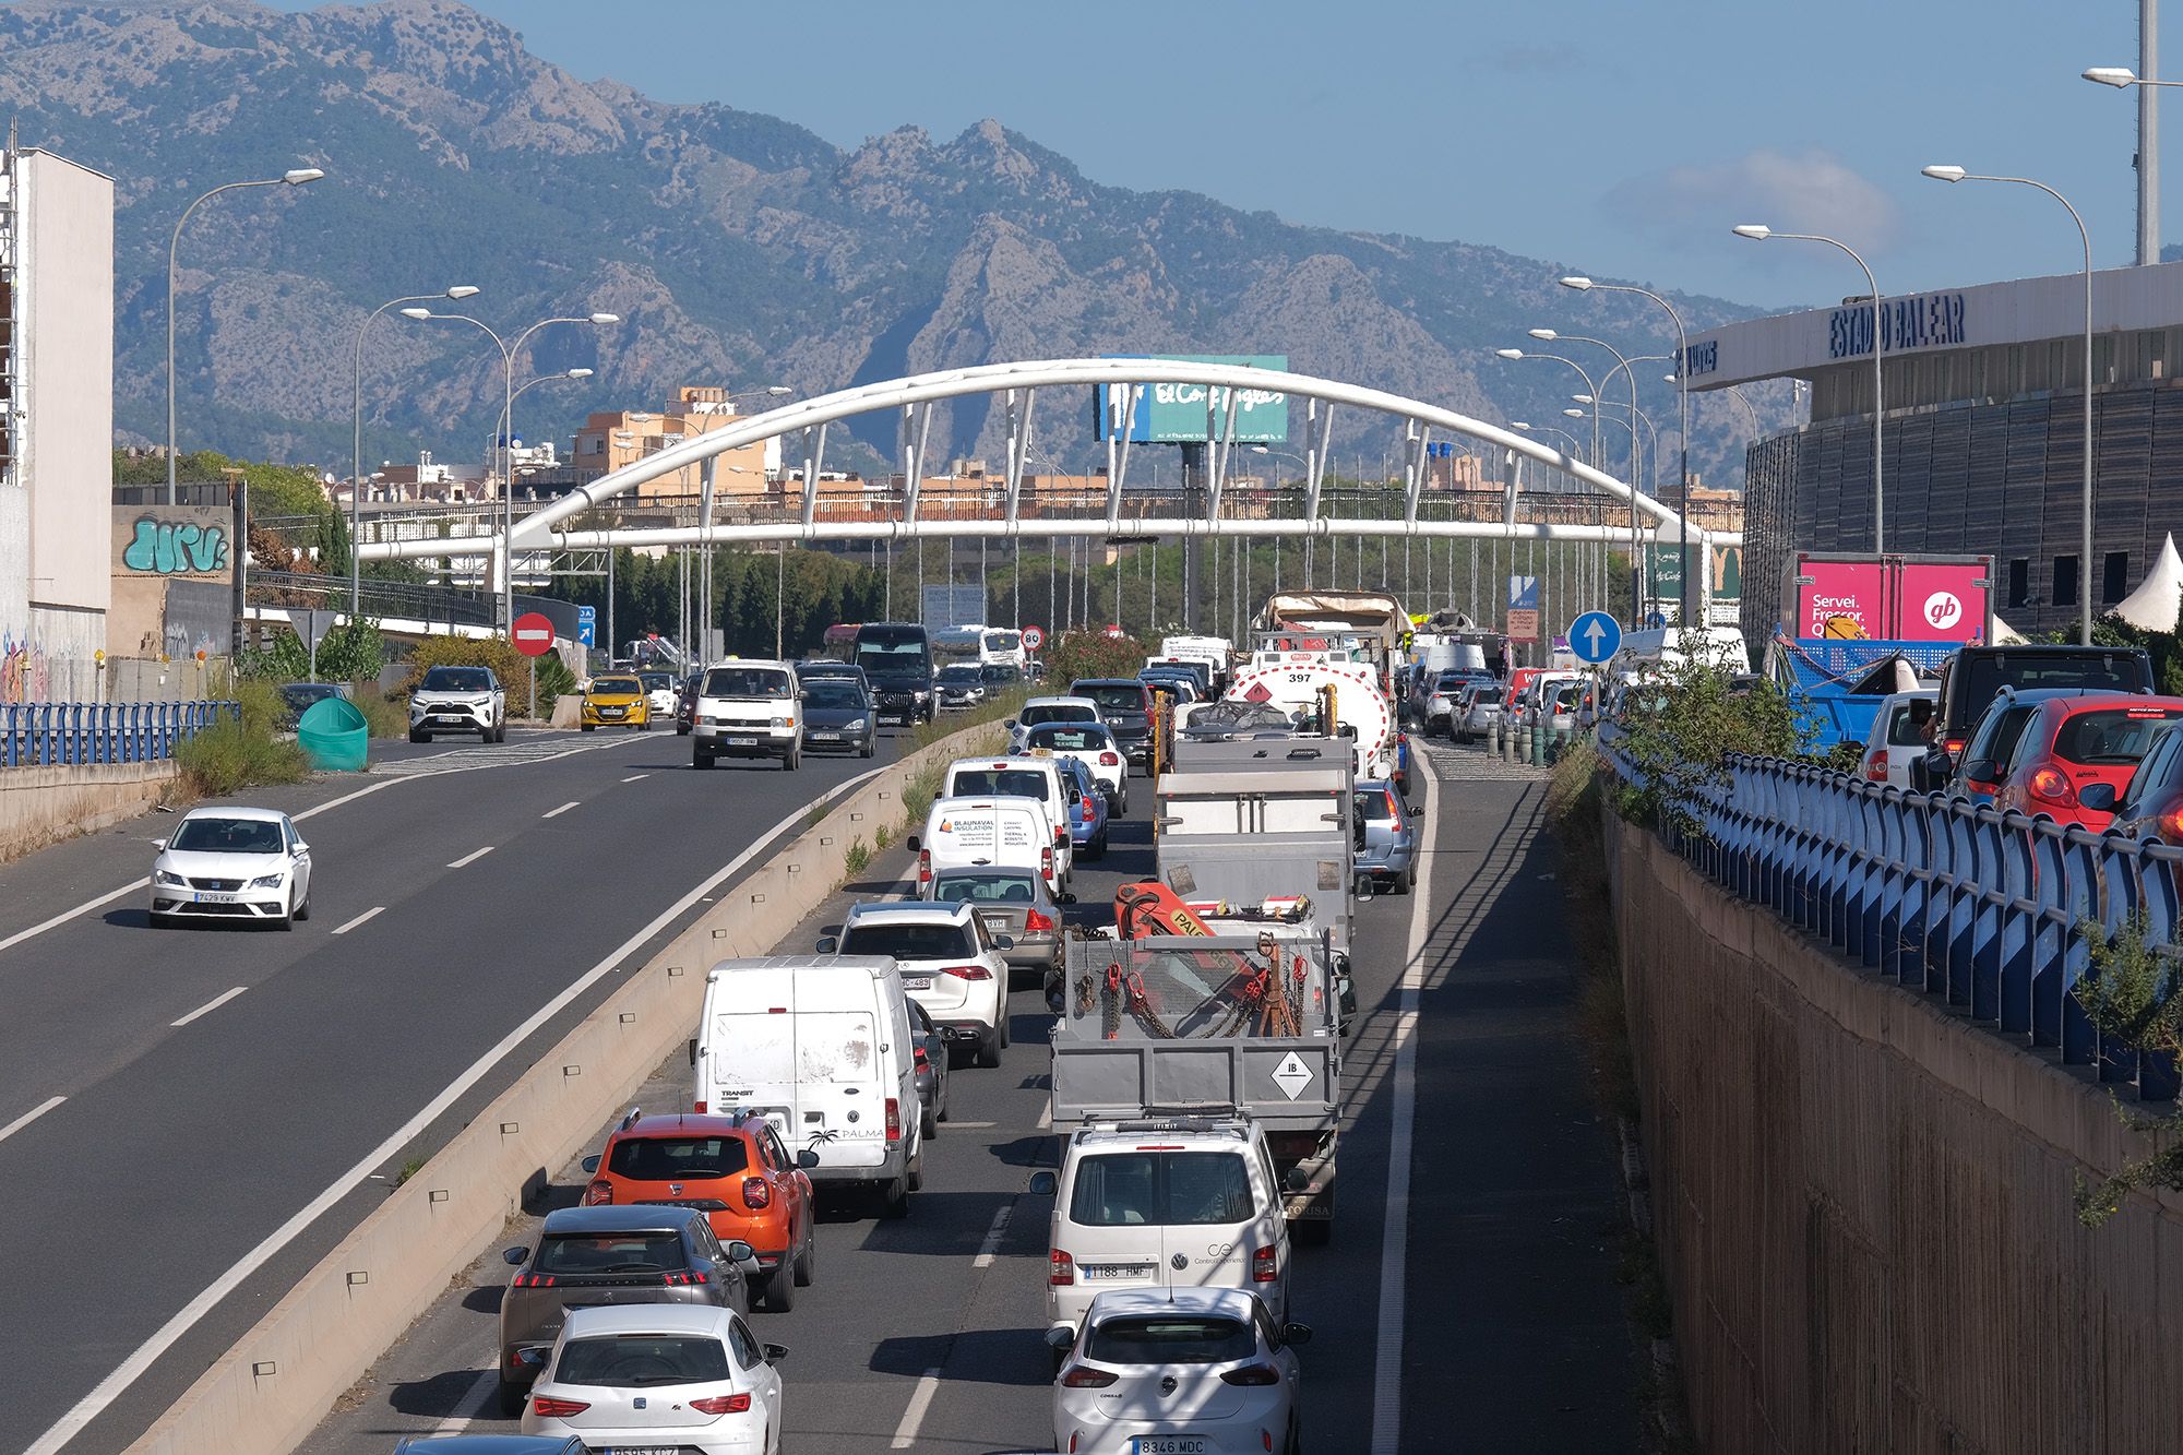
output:
M2113 933L2144 913L2174 974L2183 848L1777 758L1729 758L1692 813L1701 832L1670 826L1668 843L1731 894L2026 1049L2142 1101L2176 1097L2172 1057L2100 1036L2072 992L2091 968L2087 920Z

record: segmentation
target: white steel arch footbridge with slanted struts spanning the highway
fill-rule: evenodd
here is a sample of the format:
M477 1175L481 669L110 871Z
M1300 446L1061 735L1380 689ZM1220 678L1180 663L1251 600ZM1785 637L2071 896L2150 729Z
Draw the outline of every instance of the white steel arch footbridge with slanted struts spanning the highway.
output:
M1081 516L1022 516L1024 478L1030 459L1030 424L1041 389L1089 389L1107 385L1107 498L1105 511ZM1129 483L1131 443L1118 439L1122 424L1133 417L1137 402L1157 385L1201 385L1205 387L1207 422L1207 468L1205 468L1205 513L1190 516L1137 516L1124 518L1122 496ZM1233 518L1220 513L1220 496L1229 481L1229 461L1236 450L1236 422L1240 409L1218 411L1216 391L1264 391L1303 400L1303 516L1301 518ZM932 406L976 393L998 393L1006 411L1006 470L1002 511L989 520L963 520L958 516L921 518L917 502L926 476L926 448L932 428ZM1233 393L1229 395L1233 398ZM1404 422L1404 513L1401 518L1329 518L1319 513L1321 485L1334 454L1334 411L1362 409L1395 415ZM899 422L904 485L891 502L886 520L825 520L816 481L825 461L827 428L854 415L893 413ZM1290 413L1295 424L1295 411ZM603 546L692 546L692 544L753 544L753 542L812 542L812 540L917 540L917 537L1059 537L1059 535L1131 535L1131 537L1190 537L1190 535L1236 535L1236 537L1332 537L1332 535L1415 535L1415 537L1493 537L1493 540L1578 540L1578 542L1622 542L1629 544L1629 524L1556 524L1519 522L1513 511L1502 520L1421 520L1419 502L1425 489L1425 459L1434 435L1467 437L1524 459L1539 461L1567 478L1602 489L1605 494L1631 502L1633 492L1602 470L1596 470L1561 450L1528 435L1504 430L1484 419L1410 400L1384 389L1345 385L1340 380L1290 374L1284 369L1253 369L1244 365L1188 363L1168 358L1048 358L1033 363L976 365L969 369L943 369L875 385L858 385L812 400L768 409L766 413L738 419L725 428L707 430L681 443L646 454L644 459L605 474L589 485L578 485L570 494L524 516L515 522L513 551L596 551ZM740 450L766 439L801 439L803 481L812 483L801 492L801 513L784 511L782 520L755 520L716 524L709 498L714 465L727 450ZM1249 443L1244 446L1249 448ZM705 481L707 507L694 527L611 527L611 529L561 529L561 522L583 511L603 507L616 496L696 465ZM1644 535L1659 527L1674 527L1672 507L1646 494L1635 494L1637 513L1650 520ZM1666 533L1659 535L1663 540ZM1707 540L1735 544L1733 533L1705 533L1690 527L1694 546ZM498 533L367 542L358 555L365 559L391 557L465 557L496 555L502 548ZM1703 559L1703 557L1701 557Z

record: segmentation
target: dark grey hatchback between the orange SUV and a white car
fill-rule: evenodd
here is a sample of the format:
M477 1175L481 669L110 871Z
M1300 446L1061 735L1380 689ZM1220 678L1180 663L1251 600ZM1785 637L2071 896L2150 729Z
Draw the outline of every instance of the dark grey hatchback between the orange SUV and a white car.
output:
M500 1411L524 1396L570 1309L598 1304L714 1304L751 1313L749 1243L727 1247L696 1208L596 1206L546 1215L537 1247L500 1254L517 1274L500 1298Z

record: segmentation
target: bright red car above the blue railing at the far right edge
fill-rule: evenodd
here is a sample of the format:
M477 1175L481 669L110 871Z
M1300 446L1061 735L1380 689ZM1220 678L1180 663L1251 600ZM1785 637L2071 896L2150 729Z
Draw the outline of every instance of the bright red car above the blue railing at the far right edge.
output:
M2152 736L2183 719L2183 697L2083 693L2032 708L2008 762L1995 778L1993 806L2045 815L2056 824L2104 830L2118 793L2131 782ZM2085 802L2085 791L2102 791Z

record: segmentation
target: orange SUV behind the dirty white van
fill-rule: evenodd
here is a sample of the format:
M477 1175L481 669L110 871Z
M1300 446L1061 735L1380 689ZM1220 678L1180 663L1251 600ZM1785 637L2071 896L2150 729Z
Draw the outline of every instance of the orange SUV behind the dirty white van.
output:
M808 1162L803 1158L810 1158ZM696 1208L723 1243L742 1239L758 1254L753 1291L786 1313L812 1280L812 1180L819 1156L790 1156L773 1123L755 1112L727 1116L642 1116L631 1108L607 1147L583 1160L592 1173L587 1206L659 1204Z

